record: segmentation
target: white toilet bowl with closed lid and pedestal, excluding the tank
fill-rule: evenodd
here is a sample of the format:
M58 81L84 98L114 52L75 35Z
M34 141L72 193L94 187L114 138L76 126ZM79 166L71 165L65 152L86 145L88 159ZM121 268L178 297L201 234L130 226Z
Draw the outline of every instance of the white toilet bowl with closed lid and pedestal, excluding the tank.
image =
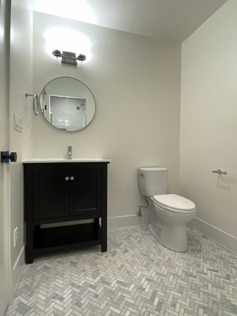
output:
M195 217L195 204L176 194L157 195L152 200L151 223L148 225L151 234L173 251L187 251L186 224Z

